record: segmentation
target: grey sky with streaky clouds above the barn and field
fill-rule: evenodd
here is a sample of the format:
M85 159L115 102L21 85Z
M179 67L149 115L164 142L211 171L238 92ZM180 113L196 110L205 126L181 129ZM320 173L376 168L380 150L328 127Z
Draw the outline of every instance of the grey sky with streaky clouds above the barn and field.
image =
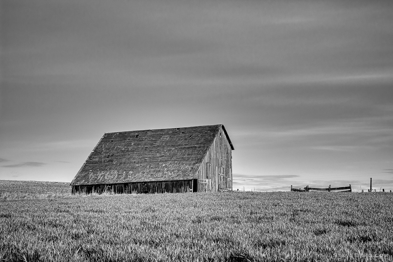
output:
M2 0L0 179L105 132L224 124L233 189L393 190L393 2Z

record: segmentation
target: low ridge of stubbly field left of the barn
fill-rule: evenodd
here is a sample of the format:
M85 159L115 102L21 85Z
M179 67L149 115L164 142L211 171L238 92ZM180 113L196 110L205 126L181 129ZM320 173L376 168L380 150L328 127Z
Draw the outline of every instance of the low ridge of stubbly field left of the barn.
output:
M66 194L71 186L70 182L0 180L0 193Z

